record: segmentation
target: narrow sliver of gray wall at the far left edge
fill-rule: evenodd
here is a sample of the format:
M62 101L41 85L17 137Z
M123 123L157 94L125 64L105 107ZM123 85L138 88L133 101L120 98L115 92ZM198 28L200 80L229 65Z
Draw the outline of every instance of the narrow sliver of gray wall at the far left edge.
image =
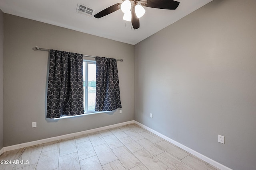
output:
M4 14L0 10L0 150L4 146Z

